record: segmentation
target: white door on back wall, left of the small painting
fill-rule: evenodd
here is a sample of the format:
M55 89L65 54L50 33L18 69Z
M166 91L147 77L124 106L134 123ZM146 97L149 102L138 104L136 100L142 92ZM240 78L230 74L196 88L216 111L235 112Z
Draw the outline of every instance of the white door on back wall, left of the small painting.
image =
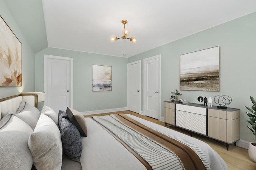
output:
M73 59L44 55L44 104L56 113L73 107Z

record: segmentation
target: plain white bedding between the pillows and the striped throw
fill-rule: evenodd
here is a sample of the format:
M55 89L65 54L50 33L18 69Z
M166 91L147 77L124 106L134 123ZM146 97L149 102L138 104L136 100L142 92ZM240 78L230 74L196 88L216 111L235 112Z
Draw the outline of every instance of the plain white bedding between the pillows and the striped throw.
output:
M83 170L146 170L120 142L91 118L85 118L88 137L82 137Z

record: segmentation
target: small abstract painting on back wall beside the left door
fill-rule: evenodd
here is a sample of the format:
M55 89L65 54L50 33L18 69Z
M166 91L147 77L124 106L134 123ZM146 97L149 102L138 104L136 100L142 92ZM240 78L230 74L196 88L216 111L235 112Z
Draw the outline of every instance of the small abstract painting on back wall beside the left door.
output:
M112 91L112 66L92 65L92 91Z

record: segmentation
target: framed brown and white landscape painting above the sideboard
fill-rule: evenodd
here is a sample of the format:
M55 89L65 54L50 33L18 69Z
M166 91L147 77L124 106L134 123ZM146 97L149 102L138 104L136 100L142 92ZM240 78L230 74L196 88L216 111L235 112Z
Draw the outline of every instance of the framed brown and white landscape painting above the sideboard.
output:
M180 55L180 90L220 91L220 46Z

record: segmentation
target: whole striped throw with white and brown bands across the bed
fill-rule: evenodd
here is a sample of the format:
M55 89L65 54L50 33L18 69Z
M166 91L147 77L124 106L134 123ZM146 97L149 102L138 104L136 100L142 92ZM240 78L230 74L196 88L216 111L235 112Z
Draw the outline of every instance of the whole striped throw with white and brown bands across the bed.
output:
M123 114L93 119L123 143L147 169L210 170L202 150L191 143L166 136Z

